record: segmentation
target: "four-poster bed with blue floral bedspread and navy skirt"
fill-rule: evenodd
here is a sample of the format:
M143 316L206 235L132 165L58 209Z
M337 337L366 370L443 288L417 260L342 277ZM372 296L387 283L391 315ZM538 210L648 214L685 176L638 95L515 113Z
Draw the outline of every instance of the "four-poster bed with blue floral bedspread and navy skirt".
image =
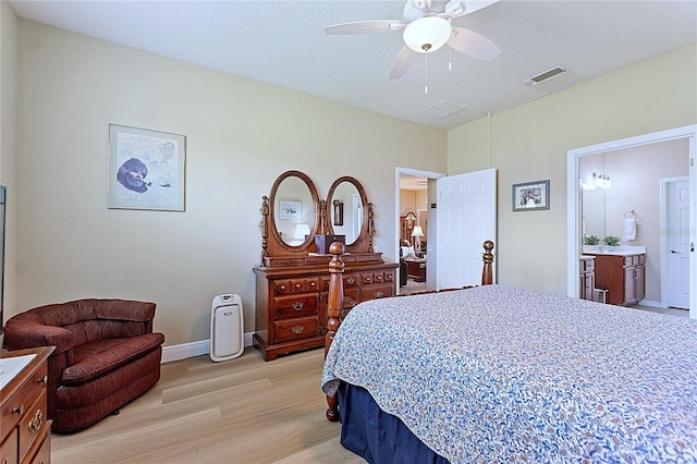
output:
M340 321L333 252L321 386L366 461L697 462L697 320L491 284Z

